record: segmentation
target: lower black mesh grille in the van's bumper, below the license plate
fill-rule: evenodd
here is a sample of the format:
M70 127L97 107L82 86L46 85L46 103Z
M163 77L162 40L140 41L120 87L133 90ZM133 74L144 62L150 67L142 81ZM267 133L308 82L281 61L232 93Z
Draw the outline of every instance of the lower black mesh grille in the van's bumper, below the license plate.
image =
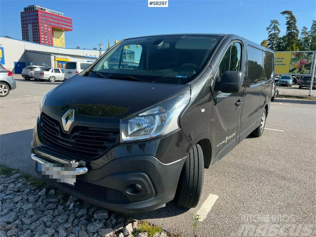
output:
M110 203L130 203L125 194L117 189L107 188L91 184L80 179L76 180L75 186L58 183L64 188L74 191L83 196Z

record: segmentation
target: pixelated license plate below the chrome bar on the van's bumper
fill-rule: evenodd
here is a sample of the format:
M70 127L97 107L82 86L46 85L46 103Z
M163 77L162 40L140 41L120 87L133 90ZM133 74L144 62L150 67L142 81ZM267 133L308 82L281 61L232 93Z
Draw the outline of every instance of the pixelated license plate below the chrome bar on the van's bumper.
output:
M57 183L76 183L76 163L36 163L40 179Z

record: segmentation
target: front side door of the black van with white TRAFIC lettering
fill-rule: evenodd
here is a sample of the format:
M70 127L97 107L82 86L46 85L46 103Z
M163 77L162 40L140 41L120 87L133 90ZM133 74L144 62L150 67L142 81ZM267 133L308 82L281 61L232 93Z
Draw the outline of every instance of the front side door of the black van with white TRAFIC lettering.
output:
M221 81L226 71L241 71L245 78L243 47L240 41L233 42L225 52L215 73L215 81ZM236 146L240 129L240 114L243 106L244 87L239 93L214 91L211 139L214 144L215 160L219 160Z

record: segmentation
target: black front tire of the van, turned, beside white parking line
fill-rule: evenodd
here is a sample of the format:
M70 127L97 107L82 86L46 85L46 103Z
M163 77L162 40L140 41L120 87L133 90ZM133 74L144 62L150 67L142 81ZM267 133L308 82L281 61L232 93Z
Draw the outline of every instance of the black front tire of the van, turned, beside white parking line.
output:
M203 187L204 157L202 148L196 144L189 152L181 171L174 202L179 207L196 207Z

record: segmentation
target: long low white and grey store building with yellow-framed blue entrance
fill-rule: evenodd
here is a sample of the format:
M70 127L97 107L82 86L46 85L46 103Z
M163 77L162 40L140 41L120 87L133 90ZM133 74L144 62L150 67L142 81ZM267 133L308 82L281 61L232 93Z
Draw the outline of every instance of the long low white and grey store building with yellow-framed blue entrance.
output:
M99 54L99 50L46 46L0 36L0 64L15 74L21 74L23 68L32 64L64 68L69 61L94 62Z

